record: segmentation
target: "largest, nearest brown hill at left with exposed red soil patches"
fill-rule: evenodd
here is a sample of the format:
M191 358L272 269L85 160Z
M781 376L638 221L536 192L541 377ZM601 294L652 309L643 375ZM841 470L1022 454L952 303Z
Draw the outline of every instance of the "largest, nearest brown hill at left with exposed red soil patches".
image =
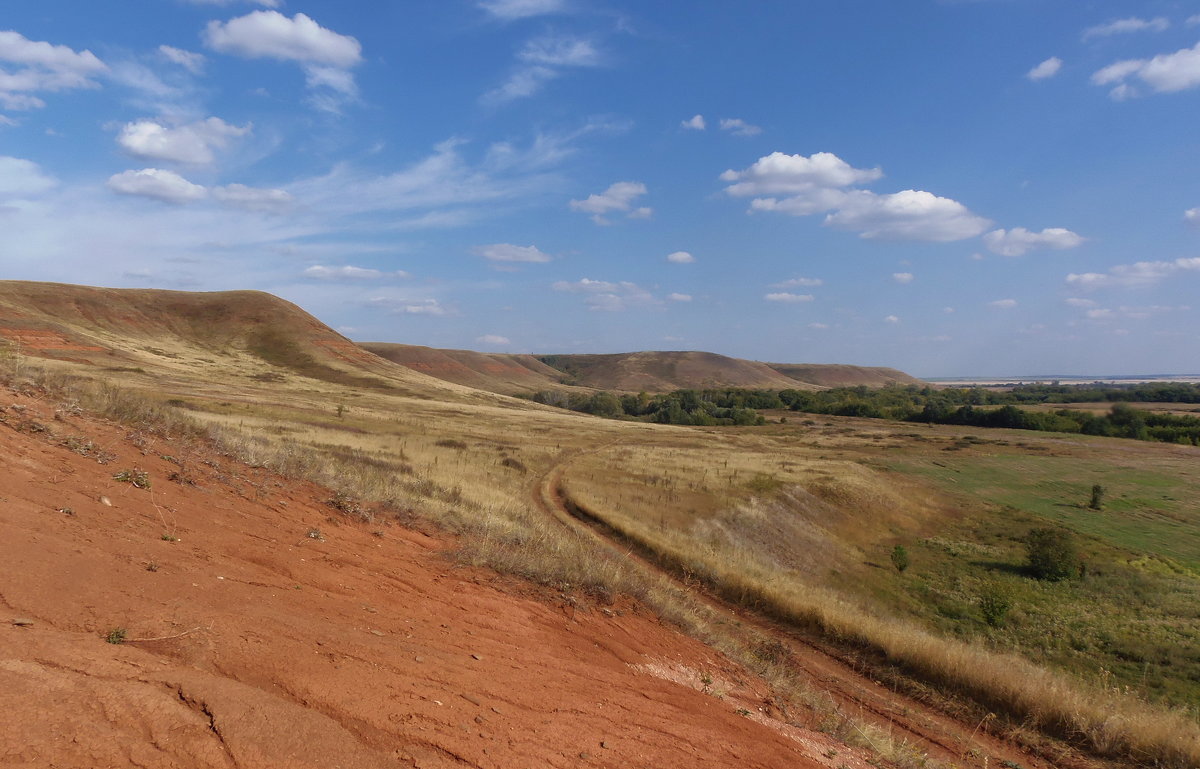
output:
M263 292L170 292L0 281L0 341L23 355L104 368L444 389ZM218 373L220 372L220 373Z

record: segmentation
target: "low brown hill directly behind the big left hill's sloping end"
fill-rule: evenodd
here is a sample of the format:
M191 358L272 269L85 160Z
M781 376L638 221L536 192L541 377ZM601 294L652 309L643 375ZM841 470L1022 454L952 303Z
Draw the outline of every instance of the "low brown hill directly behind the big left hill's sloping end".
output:
M376 355L422 374L492 392L536 392L562 385L563 373L533 355L442 350L416 344L366 342Z

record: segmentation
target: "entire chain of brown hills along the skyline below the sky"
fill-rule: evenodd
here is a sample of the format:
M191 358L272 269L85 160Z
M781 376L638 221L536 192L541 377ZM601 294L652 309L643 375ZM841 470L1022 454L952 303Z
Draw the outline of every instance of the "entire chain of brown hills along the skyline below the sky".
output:
M668 392L882 386L919 380L893 368L763 364L701 352L515 355L413 344L356 344L263 292L175 292L0 281L0 342L22 354L102 368L214 377L301 376L460 395L578 387ZM460 386L455 386L460 385ZM463 390L469 387L470 390ZM478 395L482 395L479 392Z

